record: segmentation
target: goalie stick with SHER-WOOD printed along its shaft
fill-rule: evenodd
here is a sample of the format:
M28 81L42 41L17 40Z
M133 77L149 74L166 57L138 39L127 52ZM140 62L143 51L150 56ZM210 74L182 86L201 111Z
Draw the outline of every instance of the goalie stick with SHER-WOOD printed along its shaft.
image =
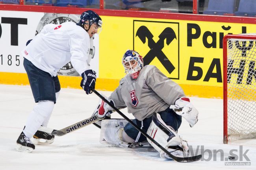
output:
M45 126L41 126L38 130L41 132L51 133L52 135L56 135L56 136L63 136L63 135L66 135L67 133L74 132L75 130L83 128L83 127L85 127L89 124L92 124L94 122L100 121L104 118L105 117L100 118L97 115L94 115L92 117L89 117L88 119L85 119L83 121L72 124L66 128L61 129L61 130L46 128Z

